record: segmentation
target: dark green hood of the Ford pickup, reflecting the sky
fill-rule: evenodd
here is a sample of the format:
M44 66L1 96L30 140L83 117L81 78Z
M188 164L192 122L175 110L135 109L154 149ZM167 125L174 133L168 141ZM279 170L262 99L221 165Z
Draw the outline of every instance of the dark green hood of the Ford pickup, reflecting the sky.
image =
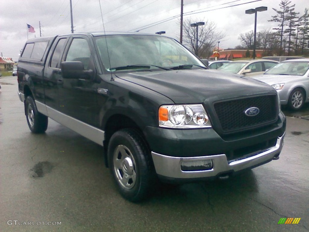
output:
M159 92L177 104L202 103L235 97L275 93L271 86L218 70L176 70L119 73L120 79Z

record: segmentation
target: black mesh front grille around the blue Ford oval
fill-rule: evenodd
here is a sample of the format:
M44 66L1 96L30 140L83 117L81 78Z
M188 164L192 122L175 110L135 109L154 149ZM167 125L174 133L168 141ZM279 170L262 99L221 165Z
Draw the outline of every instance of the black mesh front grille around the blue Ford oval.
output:
M260 112L249 117L244 112L250 107L257 107ZM223 133L267 125L275 122L278 116L276 95L220 101L214 103L214 109Z

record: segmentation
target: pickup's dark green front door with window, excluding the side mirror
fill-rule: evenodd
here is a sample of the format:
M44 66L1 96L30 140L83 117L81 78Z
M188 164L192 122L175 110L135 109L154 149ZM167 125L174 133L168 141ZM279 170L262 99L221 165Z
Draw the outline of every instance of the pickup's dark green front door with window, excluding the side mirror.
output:
M95 64L90 41L86 36L72 36L66 48L64 61L81 61L84 70L93 70ZM91 79L58 80L59 111L82 122L98 127L97 84Z

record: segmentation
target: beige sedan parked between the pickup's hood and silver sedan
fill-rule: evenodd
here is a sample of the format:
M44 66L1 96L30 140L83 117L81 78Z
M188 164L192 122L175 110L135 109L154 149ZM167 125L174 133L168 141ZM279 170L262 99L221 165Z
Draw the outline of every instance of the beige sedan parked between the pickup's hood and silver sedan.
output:
M279 62L264 59L237 60L219 67L218 70L243 76L253 76L263 74L277 63Z

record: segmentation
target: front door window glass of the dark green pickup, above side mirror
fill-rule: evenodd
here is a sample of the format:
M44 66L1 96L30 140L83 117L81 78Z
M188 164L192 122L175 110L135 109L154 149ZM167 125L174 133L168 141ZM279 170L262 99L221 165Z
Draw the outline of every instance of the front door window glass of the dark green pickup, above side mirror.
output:
M90 54L87 41L83 38L74 38L66 56L66 61L81 61L84 64L84 70L87 70Z

